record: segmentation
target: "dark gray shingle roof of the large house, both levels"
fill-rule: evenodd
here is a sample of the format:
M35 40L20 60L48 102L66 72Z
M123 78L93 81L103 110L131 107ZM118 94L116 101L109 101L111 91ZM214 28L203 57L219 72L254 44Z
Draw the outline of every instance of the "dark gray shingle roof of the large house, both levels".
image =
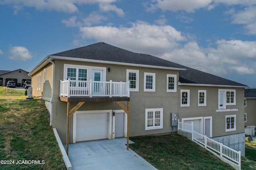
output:
M143 64L151 66L163 66L172 68L186 68L180 70L180 82L192 84L212 84L225 86L246 86L219 76L214 76L193 68L189 68L171 61L160 59L152 55L134 53L106 43L95 43L92 45L63 51L52 56L71 57L80 59L93 59L101 61L112 61L120 63Z

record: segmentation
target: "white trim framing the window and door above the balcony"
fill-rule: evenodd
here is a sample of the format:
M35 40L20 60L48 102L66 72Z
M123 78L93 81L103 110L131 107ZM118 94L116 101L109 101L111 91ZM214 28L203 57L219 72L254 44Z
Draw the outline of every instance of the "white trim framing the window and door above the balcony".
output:
M88 69L88 76L87 80L89 81L92 79L92 70L102 70L103 71L103 81L106 81L106 67L97 67L97 66L83 66L83 65L74 65L74 64L64 64L64 73L63 73L63 79L66 80L67 78L67 70L68 68L82 68L82 69ZM78 77L78 76L77 76Z

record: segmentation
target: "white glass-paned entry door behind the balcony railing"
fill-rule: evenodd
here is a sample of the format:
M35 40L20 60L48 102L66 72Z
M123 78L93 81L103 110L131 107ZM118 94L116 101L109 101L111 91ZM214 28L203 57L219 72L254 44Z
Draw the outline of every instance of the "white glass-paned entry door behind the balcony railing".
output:
M92 81L98 81L92 87L94 95L102 94L103 70L92 70Z

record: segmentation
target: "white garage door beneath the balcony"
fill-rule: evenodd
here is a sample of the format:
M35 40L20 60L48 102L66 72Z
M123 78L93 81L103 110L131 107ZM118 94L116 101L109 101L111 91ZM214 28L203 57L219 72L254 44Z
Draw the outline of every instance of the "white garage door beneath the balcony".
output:
M86 113L76 115L76 141L108 138L109 113Z

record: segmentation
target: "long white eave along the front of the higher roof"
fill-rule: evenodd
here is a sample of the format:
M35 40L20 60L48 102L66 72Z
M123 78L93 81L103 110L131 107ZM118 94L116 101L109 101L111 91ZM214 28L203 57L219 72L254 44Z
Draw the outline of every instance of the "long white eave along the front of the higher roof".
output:
M118 65L126 65L126 66L162 68L162 69L169 69L169 70L186 70L186 68L153 66L153 65L133 64L133 63L121 63L121 62L115 62L115 61L103 61L103 60L92 60L92 59L80 59L80 58L62 57L62 56L54 56L54 55L49 55L48 57L50 57L52 59L68 60L68 61L83 61L83 62L90 62L90 63L107 63L107 64L118 64Z

